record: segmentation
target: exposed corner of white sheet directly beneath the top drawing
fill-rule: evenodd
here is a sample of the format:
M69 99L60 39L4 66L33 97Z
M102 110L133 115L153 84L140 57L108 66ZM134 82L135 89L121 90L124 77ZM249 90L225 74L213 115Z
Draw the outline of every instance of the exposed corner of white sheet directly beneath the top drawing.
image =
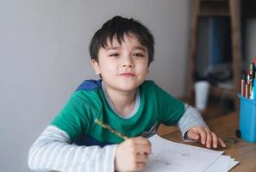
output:
M230 161L231 158L229 156L221 156L203 172L228 172Z

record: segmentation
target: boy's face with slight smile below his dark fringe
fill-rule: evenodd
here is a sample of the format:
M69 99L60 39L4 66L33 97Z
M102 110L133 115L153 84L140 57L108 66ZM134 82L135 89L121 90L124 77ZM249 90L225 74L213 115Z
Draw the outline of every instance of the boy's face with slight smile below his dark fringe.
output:
M148 53L133 35L125 35L122 45L116 39L101 47L98 61L92 60L97 75L101 75L106 89L134 91L147 77Z

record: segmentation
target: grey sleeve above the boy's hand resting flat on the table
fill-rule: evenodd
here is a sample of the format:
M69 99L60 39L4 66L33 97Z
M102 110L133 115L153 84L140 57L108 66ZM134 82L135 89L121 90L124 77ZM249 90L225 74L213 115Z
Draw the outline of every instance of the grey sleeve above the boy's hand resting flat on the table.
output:
M193 141L186 134L191 128L195 126L207 126L198 110L188 104L185 104L185 112L180 120L178 120L177 125L184 141Z

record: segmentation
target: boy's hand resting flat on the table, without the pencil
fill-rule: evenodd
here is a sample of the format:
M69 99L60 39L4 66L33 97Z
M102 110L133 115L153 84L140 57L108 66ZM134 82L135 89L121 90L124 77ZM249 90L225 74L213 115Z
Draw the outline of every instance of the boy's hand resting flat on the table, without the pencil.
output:
M226 147L222 138L217 137L215 132L211 132L207 126L196 126L191 128L188 131L188 137L201 141L201 143L205 144L207 148L210 148L211 145L213 145L214 148L217 148L218 144L221 144L223 148Z

